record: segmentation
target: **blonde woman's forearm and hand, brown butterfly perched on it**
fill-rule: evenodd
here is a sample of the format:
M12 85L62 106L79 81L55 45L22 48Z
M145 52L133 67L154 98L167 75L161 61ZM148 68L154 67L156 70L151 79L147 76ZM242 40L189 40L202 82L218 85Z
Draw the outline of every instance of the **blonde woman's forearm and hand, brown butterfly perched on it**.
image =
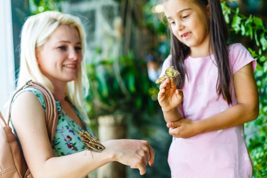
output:
M82 151L62 157L53 157L32 165L34 177L83 177L93 170L117 161L138 168L140 174L146 171L146 164L153 165L155 152L145 140L118 139L103 142L106 147L101 153Z

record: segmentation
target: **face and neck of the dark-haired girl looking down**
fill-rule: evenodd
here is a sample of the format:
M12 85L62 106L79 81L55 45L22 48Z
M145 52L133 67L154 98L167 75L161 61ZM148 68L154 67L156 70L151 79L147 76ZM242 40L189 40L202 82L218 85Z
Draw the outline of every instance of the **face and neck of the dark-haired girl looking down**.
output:
M192 56L209 55L208 18L204 10L194 1L168 0L164 3L164 13L173 35L187 45Z

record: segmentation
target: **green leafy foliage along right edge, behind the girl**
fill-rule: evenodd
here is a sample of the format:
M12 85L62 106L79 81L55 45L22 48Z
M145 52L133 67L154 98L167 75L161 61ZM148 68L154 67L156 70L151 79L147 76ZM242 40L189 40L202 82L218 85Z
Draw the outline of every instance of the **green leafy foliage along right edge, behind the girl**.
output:
M254 40L256 47L249 47L252 56L257 60L255 78L258 86L260 109L257 120L247 123L246 129L253 133L247 139L247 145L253 162L254 177L267 176L267 29L259 17L246 17L239 8L232 10L222 3L226 22L235 34Z

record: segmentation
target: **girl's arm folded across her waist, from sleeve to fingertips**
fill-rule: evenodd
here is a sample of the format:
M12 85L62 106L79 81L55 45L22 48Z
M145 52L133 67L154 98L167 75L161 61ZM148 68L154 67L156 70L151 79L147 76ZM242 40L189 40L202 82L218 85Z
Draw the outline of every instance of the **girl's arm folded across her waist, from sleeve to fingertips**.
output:
M188 138L196 134L239 126L255 120L259 112L257 85L251 63L233 75L233 84L238 104L199 121L183 119L167 123L169 133L175 137Z

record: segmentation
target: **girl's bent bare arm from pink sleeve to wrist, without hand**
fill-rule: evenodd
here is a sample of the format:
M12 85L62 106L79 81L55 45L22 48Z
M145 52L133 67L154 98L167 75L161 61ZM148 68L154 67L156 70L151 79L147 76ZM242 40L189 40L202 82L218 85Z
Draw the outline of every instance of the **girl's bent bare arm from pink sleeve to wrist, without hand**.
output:
M233 75L233 85L238 104L224 112L200 121L200 132L239 126L258 117L258 90L251 63Z

